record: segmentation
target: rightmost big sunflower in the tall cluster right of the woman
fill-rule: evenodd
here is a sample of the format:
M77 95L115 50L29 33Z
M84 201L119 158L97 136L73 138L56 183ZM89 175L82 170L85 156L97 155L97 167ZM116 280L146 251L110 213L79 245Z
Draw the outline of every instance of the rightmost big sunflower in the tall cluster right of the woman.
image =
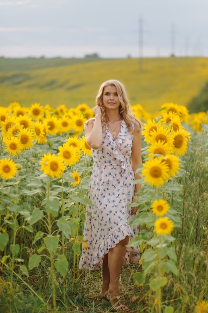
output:
M184 155L188 149L188 141L190 140L190 132L185 129L179 129L172 135L173 151L179 155Z

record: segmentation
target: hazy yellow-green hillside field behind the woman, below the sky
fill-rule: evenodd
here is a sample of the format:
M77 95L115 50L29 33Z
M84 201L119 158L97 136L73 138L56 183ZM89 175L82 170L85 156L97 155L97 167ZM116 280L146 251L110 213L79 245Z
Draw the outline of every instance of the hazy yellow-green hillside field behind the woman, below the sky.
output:
M120 79L132 105L159 110L165 102L188 105L208 81L208 58L0 58L0 105L38 102L55 107L93 106L99 85Z

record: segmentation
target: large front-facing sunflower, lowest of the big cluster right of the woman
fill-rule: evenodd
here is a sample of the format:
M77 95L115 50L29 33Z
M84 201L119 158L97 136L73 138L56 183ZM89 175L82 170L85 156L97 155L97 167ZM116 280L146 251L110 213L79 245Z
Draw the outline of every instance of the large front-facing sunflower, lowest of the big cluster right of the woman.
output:
M169 168L161 158L151 158L144 163L142 175L150 185L160 186L169 178Z

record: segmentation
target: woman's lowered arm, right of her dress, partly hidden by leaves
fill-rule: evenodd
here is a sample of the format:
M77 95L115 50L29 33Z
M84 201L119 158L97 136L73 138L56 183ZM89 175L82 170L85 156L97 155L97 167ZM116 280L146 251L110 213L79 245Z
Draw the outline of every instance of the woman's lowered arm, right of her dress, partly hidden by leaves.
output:
M138 174L136 174L137 168L142 165L142 156L141 156L141 147L142 147L142 136L141 129L139 123L135 122L135 133L132 142L132 153L131 153L131 164L134 171L135 179L141 178ZM141 185L139 183L135 184L136 194L140 190ZM133 202L136 199L133 199ZM132 214L136 213L137 208L132 207Z

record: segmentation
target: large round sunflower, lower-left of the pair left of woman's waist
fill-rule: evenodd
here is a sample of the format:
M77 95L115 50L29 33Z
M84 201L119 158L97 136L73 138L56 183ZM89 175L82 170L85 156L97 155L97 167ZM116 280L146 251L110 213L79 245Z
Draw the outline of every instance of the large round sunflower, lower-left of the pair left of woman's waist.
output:
M41 158L40 162L41 167L40 170L52 178L60 177L62 175L63 170L65 170L66 166L63 162L63 158L59 155L44 153L44 156Z

